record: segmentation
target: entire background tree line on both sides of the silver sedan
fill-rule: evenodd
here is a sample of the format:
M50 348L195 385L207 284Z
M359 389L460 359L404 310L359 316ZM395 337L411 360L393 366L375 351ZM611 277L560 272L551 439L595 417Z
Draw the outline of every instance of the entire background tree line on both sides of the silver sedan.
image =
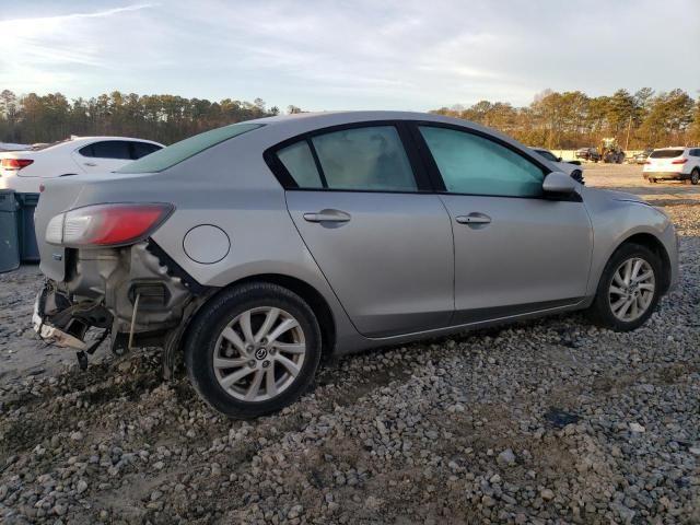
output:
M288 113L299 113L289 106ZM151 139L165 144L228 124L278 115L265 101L184 98L115 91L69 101L61 93L16 95L0 92L0 142L54 142L71 135L114 135ZM700 100L682 90L635 93L618 90L610 96L581 91L546 90L532 104L481 101L433 113L481 122L532 145L571 149L599 145L614 137L625 149L700 144Z

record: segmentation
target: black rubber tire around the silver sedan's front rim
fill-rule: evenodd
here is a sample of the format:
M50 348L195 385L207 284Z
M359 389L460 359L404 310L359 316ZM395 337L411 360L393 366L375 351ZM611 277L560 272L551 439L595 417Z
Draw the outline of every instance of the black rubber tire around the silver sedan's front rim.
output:
M632 322L625 322L612 313L609 302L609 290L614 275L620 265L634 257L646 260L646 262L652 267L655 279L654 295L646 311L639 318ZM644 322L646 322L652 313L654 313L654 310L656 310L656 305L658 304L658 299L661 296L660 292L662 282L662 262L656 254L646 246L632 243L623 244L612 254L605 266L605 270L603 270L603 276L600 276L600 281L598 282L595 300L588 311L591 318L595 324L605 328L610 328L615 331L629 331L639 328L644 324Z

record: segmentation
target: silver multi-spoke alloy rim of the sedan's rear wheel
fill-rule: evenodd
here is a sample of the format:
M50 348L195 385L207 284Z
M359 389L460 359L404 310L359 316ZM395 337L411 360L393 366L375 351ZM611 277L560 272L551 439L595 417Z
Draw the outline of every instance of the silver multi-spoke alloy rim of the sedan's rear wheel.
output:
M255 307L236 316L214 346L219 385L243 401L265 401L289 388L306 355L304 331L290 313Z

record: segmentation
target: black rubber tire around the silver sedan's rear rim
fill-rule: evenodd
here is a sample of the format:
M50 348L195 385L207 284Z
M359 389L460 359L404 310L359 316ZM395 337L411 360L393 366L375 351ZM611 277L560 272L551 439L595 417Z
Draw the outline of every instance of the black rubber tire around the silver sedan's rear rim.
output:
M246 401L229 394L217 380L213 359L217 341L235 317L256 307L276 307L293 316L305 340L304 361L293 382L276 397ZM299 399L312 383L322 354L318 322L311 307L290 290L267 282L252 282L212 298L192 319L185 341L185 363L195 390L214 410L236 419L252 419L281 410Z

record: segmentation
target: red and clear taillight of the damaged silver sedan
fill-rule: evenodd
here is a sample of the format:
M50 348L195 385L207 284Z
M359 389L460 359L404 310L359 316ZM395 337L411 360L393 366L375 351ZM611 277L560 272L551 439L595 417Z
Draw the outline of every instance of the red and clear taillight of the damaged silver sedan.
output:
M46 241L75 247L132 244L152 233L172 210L166 203L86 206L51 219Z

